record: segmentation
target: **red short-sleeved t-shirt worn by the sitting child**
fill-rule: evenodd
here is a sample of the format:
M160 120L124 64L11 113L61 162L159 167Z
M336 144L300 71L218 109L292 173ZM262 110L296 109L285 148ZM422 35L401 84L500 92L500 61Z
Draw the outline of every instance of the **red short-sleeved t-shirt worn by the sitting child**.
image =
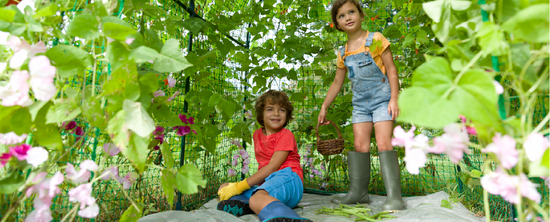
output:
M294 134L290 130L283 128L281 131L271 134L269 136L264 135L262 128L254 132L254 153L256 154L256 160L258 161L258 170L267 166L273 153L276 151L290 151L288 157L279 170L290 167L292 172L295 172L300 176L302 182L304 181L304 174L302 167L300 166L300 154L298 154L298 146L296 145L296 139Z

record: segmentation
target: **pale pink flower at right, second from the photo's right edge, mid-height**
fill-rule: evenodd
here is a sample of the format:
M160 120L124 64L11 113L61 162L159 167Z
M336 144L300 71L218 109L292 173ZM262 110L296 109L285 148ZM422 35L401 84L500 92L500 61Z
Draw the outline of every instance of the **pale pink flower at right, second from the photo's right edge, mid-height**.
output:
M518 162L518 151L516 150L516 141L514 138L500 133L493 137L493 143L487 145L481 152L494 153L500 160L500 164L505 169L512 169Z

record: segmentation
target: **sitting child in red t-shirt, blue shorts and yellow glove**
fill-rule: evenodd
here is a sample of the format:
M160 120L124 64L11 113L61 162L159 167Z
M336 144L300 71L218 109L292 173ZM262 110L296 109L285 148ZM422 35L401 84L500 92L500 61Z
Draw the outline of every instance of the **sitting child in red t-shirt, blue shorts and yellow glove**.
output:
M285 128L292 119L292 104L285 93L270 90L258 98L255 109L262 126L253 136L258 172L241 182L222 184L218 210L235 216L256 213L260 221L311 221L291 209L304 192L296 140Z

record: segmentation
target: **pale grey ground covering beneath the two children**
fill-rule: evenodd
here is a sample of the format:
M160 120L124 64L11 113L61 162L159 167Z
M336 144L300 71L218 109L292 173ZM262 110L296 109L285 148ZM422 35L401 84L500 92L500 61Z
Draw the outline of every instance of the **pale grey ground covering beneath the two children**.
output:
M386 197L370 195L371 203L364 204L370 208L371 215L382 210L382 204ZM449 195L443 191L427 196L403 198L406 209L392 215L397 218L384 221L484 221L485 218L476 217L468 211L460 202L452 204L452 209L441 207L442 200L449 200ZM229 213L216 210L217 199L211 200L195 211L166 211L151 214L138 220L138 222L259 222L256 215L245 215L235 217ZM309 218L316 222L355 221L356 217L333 216L315 214L316 210L322 207L340 207L338 204L330 203L330 196L304 194L300 204L294 208L298 215Z

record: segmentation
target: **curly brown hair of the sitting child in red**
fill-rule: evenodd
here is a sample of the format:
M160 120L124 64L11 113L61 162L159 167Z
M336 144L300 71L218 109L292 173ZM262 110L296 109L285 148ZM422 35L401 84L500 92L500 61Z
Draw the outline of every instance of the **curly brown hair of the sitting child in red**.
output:
M256 110L256 121L264 127L264 109L267 105L277 104L281 107L283 107L286 110L286 122L283 125L283 127L286 127L286 125L290 122L290 120L294 119L292 117L292 111L294 111L294 107L292 107L292 103L290 103L290 99L288 99L288 96L281 91L277 90L269 90L262 94L258 100L256 100L256 105L254 106L254 109Z

